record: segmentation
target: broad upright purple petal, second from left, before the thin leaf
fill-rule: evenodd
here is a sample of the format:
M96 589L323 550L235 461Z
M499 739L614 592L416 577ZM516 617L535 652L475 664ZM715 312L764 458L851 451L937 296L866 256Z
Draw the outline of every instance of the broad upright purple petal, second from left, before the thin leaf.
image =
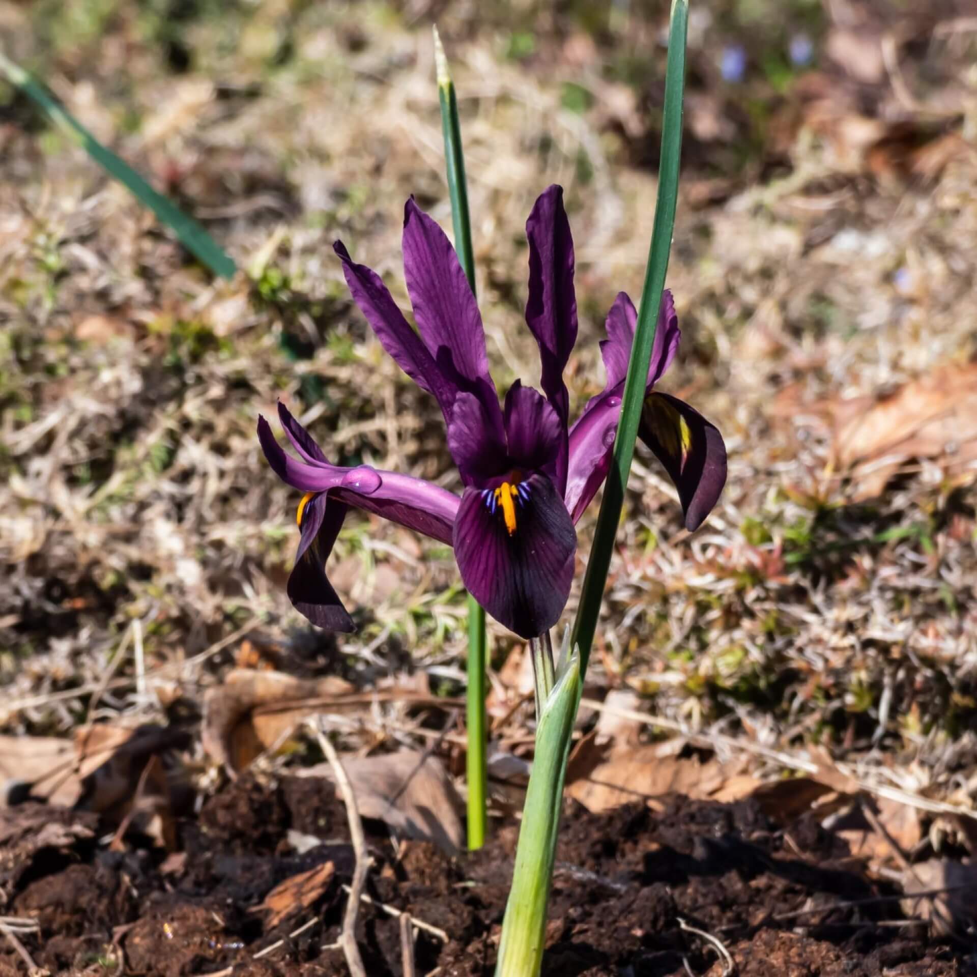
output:
M404 278L424 344L449 383L482 401L501 440L478 303L447 235L413 199L404 207Z

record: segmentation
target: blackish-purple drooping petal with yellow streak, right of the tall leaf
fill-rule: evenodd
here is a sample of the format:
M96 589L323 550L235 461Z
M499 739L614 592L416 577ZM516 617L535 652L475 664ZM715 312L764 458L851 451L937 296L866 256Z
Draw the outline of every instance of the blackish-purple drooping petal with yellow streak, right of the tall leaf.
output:
M638 437L658 455L678 489L685 528L697 530L726 484L726 446L718 429L677 397L649 394Z

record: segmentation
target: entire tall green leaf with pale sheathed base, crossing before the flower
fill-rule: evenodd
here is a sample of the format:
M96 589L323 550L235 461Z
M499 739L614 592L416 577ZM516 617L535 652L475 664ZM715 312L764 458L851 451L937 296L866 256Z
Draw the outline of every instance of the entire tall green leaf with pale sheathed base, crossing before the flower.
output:
M634 442L644 403L648 364L658 325L678 199L679 156L682 146L682 92L685 86L687 0L673 0L665 69L665 105L661 132L658 202L641 295L641 309L628 362L621 401L614 460L604 488L594 544L587 562L583 591L570 647L573 655L557 669L557 684L541 708L536 750L523 822L516 848L512 889L502 922L495 977L537 977L542 964L546 913L556 858L557 832L563 802L567 758L573 722L580 702L583 675L597 628L601 599L611 566L624 487L631 470ZM566 648L566 645L565 645ZM566 658L566 655L562 656Z

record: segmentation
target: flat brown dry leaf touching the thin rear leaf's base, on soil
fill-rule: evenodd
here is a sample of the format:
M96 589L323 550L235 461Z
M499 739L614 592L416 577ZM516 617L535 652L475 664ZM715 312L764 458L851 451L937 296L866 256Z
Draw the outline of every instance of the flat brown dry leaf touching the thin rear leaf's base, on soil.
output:
M408 837L433 841L452 855L464 845L458 816L461 800L438 757L401 749L343 757L343 769L362 817L386 822ZM327 763L302 770L299 776L333 779Z

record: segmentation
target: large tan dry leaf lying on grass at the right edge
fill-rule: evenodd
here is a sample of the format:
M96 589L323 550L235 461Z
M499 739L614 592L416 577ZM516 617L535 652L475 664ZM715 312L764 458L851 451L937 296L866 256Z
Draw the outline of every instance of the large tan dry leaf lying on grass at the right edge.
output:
M948 363L884 398L825 405L835 464L851 469L856 500L871 498L911 458L932 458L965 477L977 460L977 363Z

